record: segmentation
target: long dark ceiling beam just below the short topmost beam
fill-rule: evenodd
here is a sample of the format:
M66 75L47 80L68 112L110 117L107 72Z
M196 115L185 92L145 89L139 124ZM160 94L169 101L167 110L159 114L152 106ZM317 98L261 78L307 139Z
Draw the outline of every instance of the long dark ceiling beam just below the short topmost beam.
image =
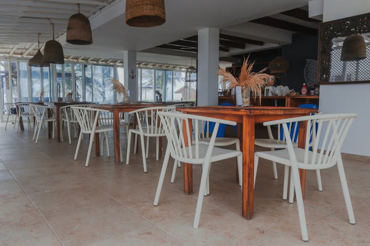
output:
M288 30L291 32L306 33L310 35L317 35L318 30L315 28L305 27L302 25L294 24L291 22L286 22L285 20L276 19L272 17L262 17L259 19L250 20L252 23L261 24L269 27L279 28L283 30Z

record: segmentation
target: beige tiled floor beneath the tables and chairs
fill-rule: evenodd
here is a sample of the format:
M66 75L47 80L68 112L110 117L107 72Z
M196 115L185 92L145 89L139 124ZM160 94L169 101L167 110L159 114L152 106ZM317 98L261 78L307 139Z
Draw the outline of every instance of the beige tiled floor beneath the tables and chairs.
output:
M128 166L115 165L106 153L93 154L85 168L87 140L75 161L76 139L72 145L58 143L43 132L36 145L32 134L0 125L0 245L370 245L369 163L344 159L356 225L348 222L337 169L322 171L322 192L316 190L315 174L308 173L310 240L302 242L297 206L282 200L281 166L274 180L271 164L261 161L255 214L248 221L241 217L234 161L214 163L211 194L199 229L193 229L199 167L191 196L182 192L182 169L170 183L170 168L155 207L162 159L155 161L154 151L147 173L139 154Z

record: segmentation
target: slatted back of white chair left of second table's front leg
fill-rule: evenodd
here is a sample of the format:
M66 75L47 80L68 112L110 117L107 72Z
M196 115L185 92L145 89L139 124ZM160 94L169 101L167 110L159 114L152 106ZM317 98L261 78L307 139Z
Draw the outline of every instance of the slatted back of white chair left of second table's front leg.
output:
M95 132L100 113L108 112L107 110L94 109L89 107L75 107L71 109L75 113L77 121L79 122L82 133Z

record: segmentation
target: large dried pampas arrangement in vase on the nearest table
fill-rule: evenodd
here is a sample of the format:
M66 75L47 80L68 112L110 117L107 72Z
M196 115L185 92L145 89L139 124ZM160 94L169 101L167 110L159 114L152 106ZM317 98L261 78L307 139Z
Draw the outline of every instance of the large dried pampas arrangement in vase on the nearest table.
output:
M236 92L241 89L243 106L250 106L250 92L252 92L253 96L258 96L261 104L262 89L265 88L267 81L273 79L273 76L264 73L267 68L262 69L260 72L252 72L253 66L254 61L250 63L248 56L244 60L241 73L237 78L225 69L218 69L218 75L221 76L221 86L224 86L228 90L235 88Z

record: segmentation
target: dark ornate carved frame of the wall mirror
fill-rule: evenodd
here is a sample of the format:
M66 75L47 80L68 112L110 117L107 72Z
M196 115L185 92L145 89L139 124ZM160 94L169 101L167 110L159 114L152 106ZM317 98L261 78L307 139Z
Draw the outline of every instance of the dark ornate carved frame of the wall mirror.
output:
M341 38L344 39L344 37L347 37L352 34L365 34L365 33L370 33L370 13L356 15L343 19L337 19L331 22L325 22L320 24L319 55L318 55L319 62L317 75L318 84L336 85L336 84L370 83L370 76L368 76L368 78L366 76L365 79L347 80L347 81L346 79L331 79L332 66L336 66L335 62L332 61L333 56L332 50L334 46L333 40ZM370 46L368 48L370 48ZM367 57L366 59L370 59L370 57ZM338 59L336 62L338 63ZM343 61L341 61L340 59L339 62L343 63ZM356 61L350 61L350 63L354 62Z

